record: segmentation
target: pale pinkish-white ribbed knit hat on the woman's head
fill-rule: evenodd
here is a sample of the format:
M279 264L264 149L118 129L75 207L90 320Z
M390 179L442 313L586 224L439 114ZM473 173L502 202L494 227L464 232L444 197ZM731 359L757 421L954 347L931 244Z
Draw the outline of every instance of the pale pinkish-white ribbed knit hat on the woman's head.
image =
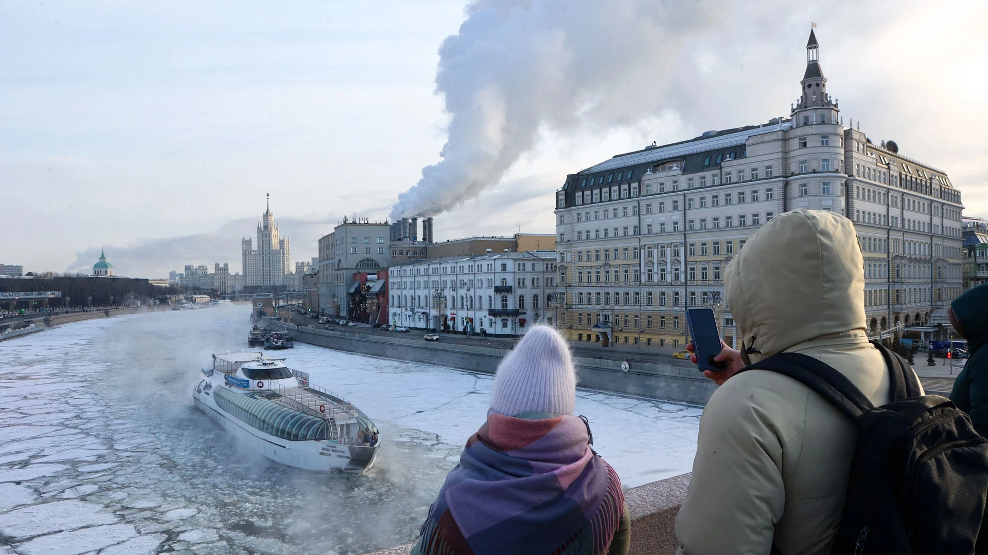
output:
M548 326L533 327L498 365L491 408L507 416L572 415L574 405L576 371L566 340Z

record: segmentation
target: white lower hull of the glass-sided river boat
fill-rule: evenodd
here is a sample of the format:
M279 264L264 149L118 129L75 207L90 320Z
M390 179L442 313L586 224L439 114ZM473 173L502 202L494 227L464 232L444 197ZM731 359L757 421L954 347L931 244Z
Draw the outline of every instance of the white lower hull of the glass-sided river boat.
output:
M221 386L220 386L221 387ZM289 441L265 434L223 411L211 394L193 390L197 408L222 426L230 435L265 457L295 468L316 472L342 471L362 474L377 456L376 446L344 445L328 440Z

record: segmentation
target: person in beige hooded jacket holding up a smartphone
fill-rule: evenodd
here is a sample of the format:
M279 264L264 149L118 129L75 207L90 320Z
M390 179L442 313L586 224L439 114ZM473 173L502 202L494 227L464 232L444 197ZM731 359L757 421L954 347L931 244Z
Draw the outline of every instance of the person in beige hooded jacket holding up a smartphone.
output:
M721 386L700 419L693 478L676 518L682 555L830 553L844 507L855 424L802 383L745 364L782 352L817 358L874 405L889 401L865 333L864 260L854 224L829 211L782 213L728 265L741 351L707 373ZM747 351L747 352L746 352ZM733 377L732 377L733 376Z

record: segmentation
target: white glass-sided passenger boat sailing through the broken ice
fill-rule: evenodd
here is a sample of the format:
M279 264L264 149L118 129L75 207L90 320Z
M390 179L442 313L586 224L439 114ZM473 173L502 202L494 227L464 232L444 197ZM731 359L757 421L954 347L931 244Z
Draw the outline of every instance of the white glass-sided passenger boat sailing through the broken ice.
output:
M193 391L196 406L264 456L306 470L363 473L377 428L346 399L309 383L284 358L213 355Z

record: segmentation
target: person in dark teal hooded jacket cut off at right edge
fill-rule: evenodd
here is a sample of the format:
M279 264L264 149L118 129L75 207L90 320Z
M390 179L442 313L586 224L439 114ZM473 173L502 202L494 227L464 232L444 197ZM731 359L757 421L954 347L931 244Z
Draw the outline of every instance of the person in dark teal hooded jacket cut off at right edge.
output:
M971 416L974 430L988 436L988 283L953 299L947 310L957 335L967 340L967 362L953 382L950 400Z

